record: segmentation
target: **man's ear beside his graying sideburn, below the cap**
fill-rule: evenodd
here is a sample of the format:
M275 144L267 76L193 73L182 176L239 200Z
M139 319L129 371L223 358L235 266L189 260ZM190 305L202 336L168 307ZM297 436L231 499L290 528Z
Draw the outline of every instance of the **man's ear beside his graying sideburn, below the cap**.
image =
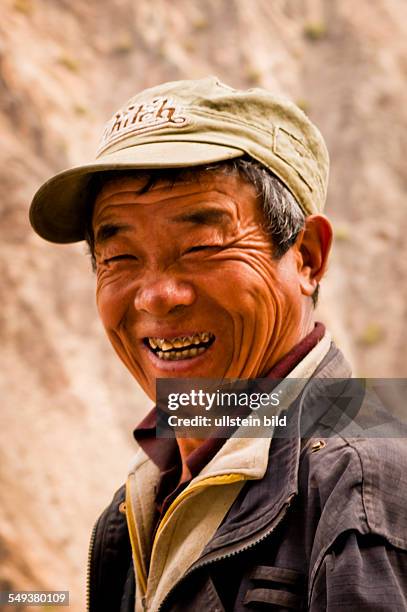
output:
M310 215L297 238L301 293L311 296L323 277L332 244L332 225L324 215Z

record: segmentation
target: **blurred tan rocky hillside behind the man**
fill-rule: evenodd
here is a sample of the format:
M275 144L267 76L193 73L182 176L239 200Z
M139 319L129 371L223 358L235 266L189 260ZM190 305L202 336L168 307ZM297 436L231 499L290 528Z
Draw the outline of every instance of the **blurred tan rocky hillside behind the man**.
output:
M407 4L3 0L0 36L0 590L69 589L79 612L148 402L103 336L84 246L30 230L33 192L144 87L217 74L284 93L332 158L320 319L357 375L407 376Z

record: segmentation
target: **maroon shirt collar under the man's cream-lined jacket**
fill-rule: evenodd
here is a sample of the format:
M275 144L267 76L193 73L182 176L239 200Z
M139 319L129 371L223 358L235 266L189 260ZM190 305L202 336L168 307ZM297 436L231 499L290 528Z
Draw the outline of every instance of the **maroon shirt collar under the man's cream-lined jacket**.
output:
M294 346L270 370L266 378L285 378L295 366L314 348L325 334L325 326L316 323L314 329ZM216 455L225 443L225 438L208 438L186 459L187 473L181 480L182 462L175 438L156 438L157 409L141 421L134 430L134 437L144 452L160 469L160 480L155 494L157 521L165 513L172 501L202 468Z

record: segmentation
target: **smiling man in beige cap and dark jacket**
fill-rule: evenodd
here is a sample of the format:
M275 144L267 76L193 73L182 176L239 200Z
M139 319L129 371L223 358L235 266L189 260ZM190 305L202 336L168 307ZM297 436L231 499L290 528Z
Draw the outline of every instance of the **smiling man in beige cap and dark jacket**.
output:
M285 436L160 439L147 415L92 534L90 610L407 609L401 442L298 424L307 381L350 376L314 322L327 177L295 105L207 78L135 96L96 161L37 192L34 229L87 240L108 337L151 398L160 378L302 381Z

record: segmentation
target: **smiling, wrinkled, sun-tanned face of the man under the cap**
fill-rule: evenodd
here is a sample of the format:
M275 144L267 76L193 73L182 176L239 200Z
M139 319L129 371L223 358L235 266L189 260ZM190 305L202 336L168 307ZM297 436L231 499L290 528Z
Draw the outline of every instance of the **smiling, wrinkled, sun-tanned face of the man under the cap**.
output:
M156 378L263 376L301 337L298 251L273 259L254 187L206 173L106 183L94 209L97 305L151 398Z

